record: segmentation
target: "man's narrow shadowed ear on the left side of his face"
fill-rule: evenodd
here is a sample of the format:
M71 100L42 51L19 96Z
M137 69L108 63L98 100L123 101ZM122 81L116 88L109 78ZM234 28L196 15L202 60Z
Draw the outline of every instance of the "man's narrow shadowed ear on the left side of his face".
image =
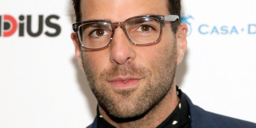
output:
M77 39L77 36L75 33L71 33L71 39L73 41L73 44L75 45L75 57L77 58L79 66L84 71L84 67L83 67L83 63L82 63L82 56L81 56L81 49L80 49L81 47L80 47L80 44L78 42L78 39Z

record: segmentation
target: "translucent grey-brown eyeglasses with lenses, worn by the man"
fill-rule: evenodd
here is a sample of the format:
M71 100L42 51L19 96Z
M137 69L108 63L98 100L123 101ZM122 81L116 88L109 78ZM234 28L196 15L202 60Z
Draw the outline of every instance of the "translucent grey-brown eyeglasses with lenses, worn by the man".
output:
M105 49L110 45L116 28L123 29L132 44L145 46L160 39L165 21L177 19L179 20L178 15L141 15L114 23L107 20L90 20L73 24L73 30L84 49Z

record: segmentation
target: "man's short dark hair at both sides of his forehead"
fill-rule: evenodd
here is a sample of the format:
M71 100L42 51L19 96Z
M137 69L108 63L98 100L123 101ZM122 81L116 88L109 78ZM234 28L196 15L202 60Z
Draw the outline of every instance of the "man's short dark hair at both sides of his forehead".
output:
M75 16L76 22L81 21L81 11L80 11L80 1L81 0L72 0L74 9L75 9ZM168 10L172 15L178 15L181 18L181 0L168 0ZM176 20L172 22L172 32L176 33L179 27L179 21Z

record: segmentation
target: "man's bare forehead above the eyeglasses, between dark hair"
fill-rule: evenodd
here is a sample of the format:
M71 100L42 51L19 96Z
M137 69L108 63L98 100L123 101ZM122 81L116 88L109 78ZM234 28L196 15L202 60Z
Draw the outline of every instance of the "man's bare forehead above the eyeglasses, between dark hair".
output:
M167 15L166 0L81 0L81 20L124 21L137 15Z

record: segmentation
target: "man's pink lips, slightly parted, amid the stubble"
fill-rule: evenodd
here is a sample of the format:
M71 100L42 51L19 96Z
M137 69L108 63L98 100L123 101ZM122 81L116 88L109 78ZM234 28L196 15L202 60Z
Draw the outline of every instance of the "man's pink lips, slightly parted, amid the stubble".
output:
M135 88L138 86L141 78L126 77L126 78L114 78L108 81L108 83L117 90L124 90L128 88Z

